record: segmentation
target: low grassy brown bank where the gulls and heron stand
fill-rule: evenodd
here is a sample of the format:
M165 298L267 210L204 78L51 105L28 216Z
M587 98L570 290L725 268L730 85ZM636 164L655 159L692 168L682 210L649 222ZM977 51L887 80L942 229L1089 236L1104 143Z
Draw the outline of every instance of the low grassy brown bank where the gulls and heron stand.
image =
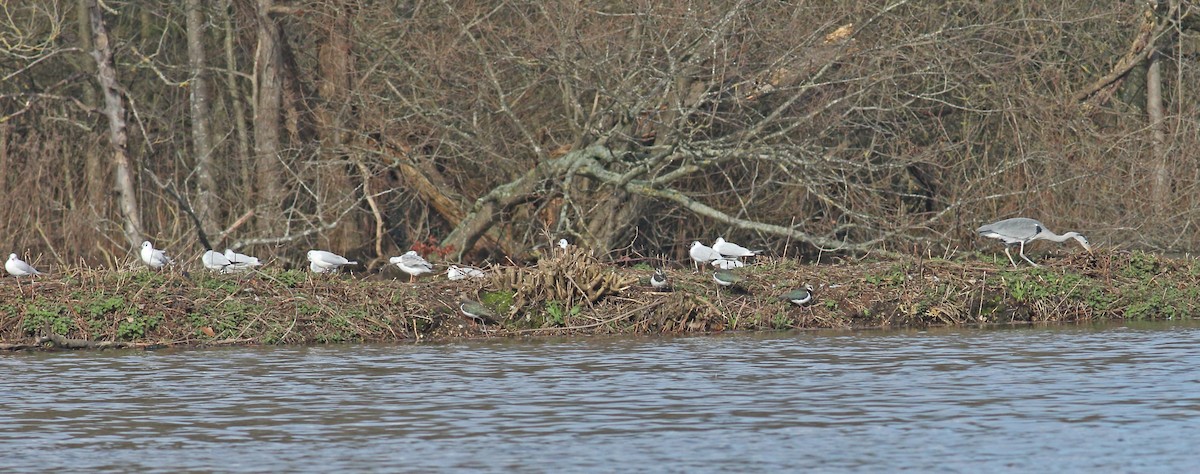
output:
M1043 256L1013 268L1000 256L808 265L760 258L733 288L712 271L599 262L582 250L535 266L409 283L370 276L266 270L245 275L62 269L0 281L0 349L415 342L530 335L679 334L809 328L928 326L1094 319L1194 318L1200 264L1106 250ZM779 299L810 284L805 306ZM481 301L494 323L462 316Z

